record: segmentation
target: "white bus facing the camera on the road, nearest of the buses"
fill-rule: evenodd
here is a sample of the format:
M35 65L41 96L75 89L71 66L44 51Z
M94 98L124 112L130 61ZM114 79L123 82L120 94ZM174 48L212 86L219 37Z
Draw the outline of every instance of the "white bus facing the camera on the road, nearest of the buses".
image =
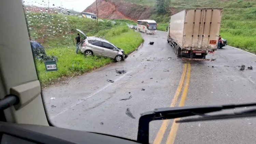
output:
M138 20L137 21L137 30L155 34L157 29L157 23L155 20Z

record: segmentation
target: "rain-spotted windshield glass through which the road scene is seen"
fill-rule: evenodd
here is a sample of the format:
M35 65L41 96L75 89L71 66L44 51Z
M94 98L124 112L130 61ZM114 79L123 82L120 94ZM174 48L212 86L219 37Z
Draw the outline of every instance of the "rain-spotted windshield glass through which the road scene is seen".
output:
M22 3L42 100L54 126L136 140L139 118L147 111L255 101L256 58L233 48L256 53L254 1ZM218 43L216 35L225 43ZM56 63L56 69L47 69L47 63ZM256 141L255 118L174 121L152 121L150 143Z

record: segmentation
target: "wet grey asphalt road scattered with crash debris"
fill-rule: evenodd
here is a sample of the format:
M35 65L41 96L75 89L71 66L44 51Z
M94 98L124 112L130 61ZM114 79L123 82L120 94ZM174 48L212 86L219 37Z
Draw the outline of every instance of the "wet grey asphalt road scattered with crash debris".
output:
M185 63L167 43L166 32L141 34L144 45L125 61L43 89L48 119L53 125L137 139L140 114L170 106ZM148 45L150 41L155 44ZM226 46L216 51L214 58L212 62L191 62L185 106L255 102L256 71L240 71L237 66L244 64L246 69L248 66L256 69L256 56ZM115 69L127 73L117 74ZM120 101L130 96L129 100ZM135 118L126 115L127 108ZM170 120L161 143L166 143L172 123ZM161 124L162 121L150 123L150 143L154 142ZM256 118L182 123L175 143L254 144L255 126Z

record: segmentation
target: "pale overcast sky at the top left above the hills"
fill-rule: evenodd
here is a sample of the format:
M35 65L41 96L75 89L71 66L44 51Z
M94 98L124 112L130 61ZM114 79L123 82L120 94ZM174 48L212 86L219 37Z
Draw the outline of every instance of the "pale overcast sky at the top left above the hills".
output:
M74 9L74 11L82 12L95 0L23 0L25 5L35 5L40 7L56 7L62 5L62 8ZM55 6L53 6L53 4Z

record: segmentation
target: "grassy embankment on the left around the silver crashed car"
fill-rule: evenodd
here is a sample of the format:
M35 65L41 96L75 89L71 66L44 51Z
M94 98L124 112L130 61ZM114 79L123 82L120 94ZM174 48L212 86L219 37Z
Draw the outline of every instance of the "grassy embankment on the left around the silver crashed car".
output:
M110 58L75 54L74 38L76 28L84 31L88 36L97 35L107 39L126 53L134 51L142 42L140 34L129 30L124 24L116 25L110 22L95 22L84 18L64 15L50 15L47 13L27 13L29 33L44 47L47 55L58 57L58 71L46 72L44 63L35 60L41 85L47 85L59 77L82 74L113 62Z

